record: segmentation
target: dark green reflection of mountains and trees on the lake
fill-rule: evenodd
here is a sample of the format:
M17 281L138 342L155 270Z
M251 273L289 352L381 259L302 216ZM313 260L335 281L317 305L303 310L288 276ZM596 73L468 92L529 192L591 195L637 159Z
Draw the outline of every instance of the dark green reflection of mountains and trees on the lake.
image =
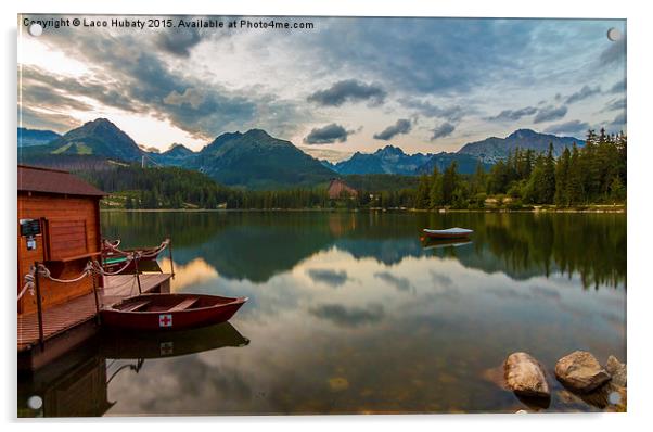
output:
M473 243L424 249L424 227L474 229ZM585 287L625 285L626 217L497 213L107 213L103 231L129 244L174 239L175 262L202 257L221 276L265 282L336 247L390 266L438 256L513 279L579 274Z

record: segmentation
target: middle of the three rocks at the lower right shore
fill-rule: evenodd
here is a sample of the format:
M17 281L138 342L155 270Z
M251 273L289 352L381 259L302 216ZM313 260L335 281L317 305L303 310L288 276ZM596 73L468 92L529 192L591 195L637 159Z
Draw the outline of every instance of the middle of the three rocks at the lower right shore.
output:
M591 392L610 381L610 374L587 351L575 351L558 360L555 377L565 386L580 393Z

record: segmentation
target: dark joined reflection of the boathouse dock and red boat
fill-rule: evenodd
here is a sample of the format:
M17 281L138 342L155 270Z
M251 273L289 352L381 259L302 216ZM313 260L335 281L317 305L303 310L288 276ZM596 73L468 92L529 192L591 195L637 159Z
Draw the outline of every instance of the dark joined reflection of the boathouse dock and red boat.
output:
M103 416L118 376L139 373L146 359L169 358L249 343L229 322L194 330L100 332L34 373L18 378L18 417ZM40 407L30 406L38 397Z

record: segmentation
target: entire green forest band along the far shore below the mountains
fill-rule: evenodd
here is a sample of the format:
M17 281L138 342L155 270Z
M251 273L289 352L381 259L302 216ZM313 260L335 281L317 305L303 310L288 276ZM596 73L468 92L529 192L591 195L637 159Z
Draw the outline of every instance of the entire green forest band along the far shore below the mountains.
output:
M516 149L489 171L479 163L472 175L456 162L441 173L407 178L392 175L347 176L358 190L330 199L326 185L312 189L255 191L216 183L205 174L178 167L142 169L136 165L79 174L100 189L121 196L126 208L483 208L488 198L511 207L535 204L581 206L626 201L624 134L588 131L581 147L553 145L545 153Z

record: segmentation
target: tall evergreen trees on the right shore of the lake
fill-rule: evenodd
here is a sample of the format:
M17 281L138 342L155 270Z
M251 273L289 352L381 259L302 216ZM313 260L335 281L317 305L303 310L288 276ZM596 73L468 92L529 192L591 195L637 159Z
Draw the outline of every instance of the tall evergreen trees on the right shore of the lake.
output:
M553 144L546 153L515 149L505 161L486 173L479 164L471 176L461 176L452 163L443 173L420 177L415 208L483 207L488 196L503 198L512 206L552 204L567 207L626 201L626 144L624 134L597 135L590 130L585 145L565 148L554 157Z

